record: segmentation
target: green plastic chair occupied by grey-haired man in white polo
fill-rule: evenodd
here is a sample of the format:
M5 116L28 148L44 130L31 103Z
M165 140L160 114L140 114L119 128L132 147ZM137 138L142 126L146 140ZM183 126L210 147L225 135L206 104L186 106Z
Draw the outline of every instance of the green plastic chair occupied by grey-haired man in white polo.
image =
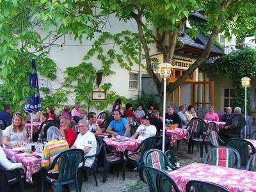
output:
M92 169L96 186L98 186L98 180L97 180L97 171L98 171L98 165L99 165L98 156L99 156L100 150L102 149L103 141L98 136L95 136L95 138L97 140L96 154L93 155L93 156L84 156L84 161L83 161L82 168L83 168L83 173L84 173L84 179L85 180L87 180L87 171ZM95 157L92 166L91 167L84 166L84 163L85 163L86 159L91 158L91 157Z

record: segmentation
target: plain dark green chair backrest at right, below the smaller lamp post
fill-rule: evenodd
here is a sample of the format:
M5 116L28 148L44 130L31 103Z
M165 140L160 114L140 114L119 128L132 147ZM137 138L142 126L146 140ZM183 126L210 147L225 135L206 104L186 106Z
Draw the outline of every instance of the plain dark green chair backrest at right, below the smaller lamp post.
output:
M232 138L225 141L225 145L228 147L236 148L241 156L241 165L243 166L246 166L250 155L255 153L255 148L253 147L252 143L246 140ZM250 150L252 150L252 153Z

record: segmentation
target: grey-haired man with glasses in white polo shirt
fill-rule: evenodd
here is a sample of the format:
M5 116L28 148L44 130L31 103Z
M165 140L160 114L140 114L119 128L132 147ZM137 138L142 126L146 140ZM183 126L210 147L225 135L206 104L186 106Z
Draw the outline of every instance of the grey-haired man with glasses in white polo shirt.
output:
M93 156L97 151L97 141L94 134L88 131L89 124L86 120L80 120L78 122L79 134L76 141L71 148L80 148L84 150L85 156ZM95 157L86 159L84 166L90 167L93 164ZM79 165L82 166L82 163Z

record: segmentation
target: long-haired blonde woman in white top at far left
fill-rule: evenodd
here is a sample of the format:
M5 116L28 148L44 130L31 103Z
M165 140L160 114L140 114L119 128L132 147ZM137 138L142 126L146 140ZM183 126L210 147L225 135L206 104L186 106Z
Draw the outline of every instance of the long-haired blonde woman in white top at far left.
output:
M4 145L15 147L20 146L24 141L28 141L27 131L22 116L16 113L12 118L12 125L4 130Z

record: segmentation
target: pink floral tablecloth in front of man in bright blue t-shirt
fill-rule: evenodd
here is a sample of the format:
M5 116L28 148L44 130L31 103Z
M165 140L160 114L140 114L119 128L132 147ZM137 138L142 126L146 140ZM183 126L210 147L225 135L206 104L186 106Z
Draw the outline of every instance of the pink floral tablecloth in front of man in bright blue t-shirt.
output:
M115 139L118 139L118 138L125 138L127 139L126 141L121 141L121 142L118 142L118 141L115 141ZM131 150L134 150L136 149L140 143L141 143L141 140L136 140L136 139L133 139L133 138L127 138L127 137L124 137L124 136L113 136L112 138L104 138L103 139L108 145L109 147L111 147L113 150L120 150L122 152L125 151L125 149L131 149Z

